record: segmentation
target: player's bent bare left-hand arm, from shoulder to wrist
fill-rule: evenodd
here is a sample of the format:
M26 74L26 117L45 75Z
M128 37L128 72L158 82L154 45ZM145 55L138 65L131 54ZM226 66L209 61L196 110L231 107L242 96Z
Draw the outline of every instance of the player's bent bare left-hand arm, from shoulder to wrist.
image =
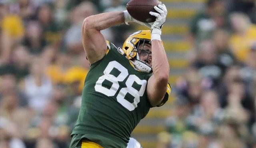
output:
M124 12L108 12L87 17L82 25L82 43L90 64L106 55L106 39L100 33L111 26L124 23Z

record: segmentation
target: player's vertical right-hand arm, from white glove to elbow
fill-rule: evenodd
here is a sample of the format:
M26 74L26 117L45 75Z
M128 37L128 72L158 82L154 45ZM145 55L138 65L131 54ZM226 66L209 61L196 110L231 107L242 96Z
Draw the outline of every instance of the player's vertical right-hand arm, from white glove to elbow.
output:
M167 10L164 4L155 7L156 11L150 12L156 16L156 22L152 25L151 45L152 45L152 69L153 75L148 80L147 95L150 104L161 105L166 94L170 67L168 59L161 41L161 28L166 20Z

